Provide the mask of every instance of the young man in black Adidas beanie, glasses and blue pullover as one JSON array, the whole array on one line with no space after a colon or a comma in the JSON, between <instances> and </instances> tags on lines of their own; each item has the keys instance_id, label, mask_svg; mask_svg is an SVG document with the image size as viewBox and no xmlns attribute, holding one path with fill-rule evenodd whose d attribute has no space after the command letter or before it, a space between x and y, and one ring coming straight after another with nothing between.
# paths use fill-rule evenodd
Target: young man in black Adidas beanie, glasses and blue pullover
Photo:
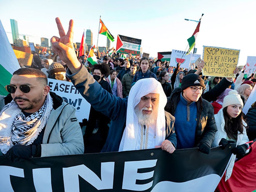
<instances>
[{"instance_id":1,"label":"young man in black Adidas beanie, glasses and blue pullover","mask_svg":"<svg viewBox=\"0 0 256 192\"><path fill-rule=\"evenodd\" d=\"M210 153L217 128L213 107L201 96L204 88L199 75L185 75L167 101L165 110L175 117L176 149L198 147L200 152Z\"/></svg>"}]
</instances>

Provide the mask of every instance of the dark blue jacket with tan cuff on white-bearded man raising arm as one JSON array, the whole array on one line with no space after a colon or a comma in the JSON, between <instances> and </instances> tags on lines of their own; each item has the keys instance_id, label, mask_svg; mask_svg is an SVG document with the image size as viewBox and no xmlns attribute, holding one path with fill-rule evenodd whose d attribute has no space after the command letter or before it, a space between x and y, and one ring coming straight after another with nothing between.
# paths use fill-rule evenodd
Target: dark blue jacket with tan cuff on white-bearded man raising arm
<instances>
[{"instance_id":1,"label":"dark blue jacket with tan cuff on white-bearded man raising arm","mask_svg":"<svg viewBox=\"0 0 256 192\"><path fill-rule=\"evenodd\" d=\"M86 101L88 101L95 110L110 117L112 120L107 141L101 152L118 151L123 136L123 130L126 126L128 97L120 98L108 93L98 82L95 82L94 78L88 73L84 66L73 75L69 69L66 74ZM166 112L165 119L166 139L171 141L174 147L176 147L177 140L174 131L175 118Z\"/></svg>"}]
</instances>

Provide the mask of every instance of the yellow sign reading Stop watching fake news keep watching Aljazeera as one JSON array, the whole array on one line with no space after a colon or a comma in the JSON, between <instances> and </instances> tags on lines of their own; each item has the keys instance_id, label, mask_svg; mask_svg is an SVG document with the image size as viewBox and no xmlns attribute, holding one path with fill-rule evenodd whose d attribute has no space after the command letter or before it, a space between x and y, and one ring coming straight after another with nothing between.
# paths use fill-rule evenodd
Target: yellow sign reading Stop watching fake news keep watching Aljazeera
<instances>
[{"instance_id":1,"label":"yellow sign reading Stop watching fake news keep watching Aljazeera","mask_svg":"<svg viewBox=\"0 0 256 192\"><path fill-rule=\"evenodd\" d=\"M240 50L203 46L203 75L234 77Z\"/></svg>"}]
</instances>

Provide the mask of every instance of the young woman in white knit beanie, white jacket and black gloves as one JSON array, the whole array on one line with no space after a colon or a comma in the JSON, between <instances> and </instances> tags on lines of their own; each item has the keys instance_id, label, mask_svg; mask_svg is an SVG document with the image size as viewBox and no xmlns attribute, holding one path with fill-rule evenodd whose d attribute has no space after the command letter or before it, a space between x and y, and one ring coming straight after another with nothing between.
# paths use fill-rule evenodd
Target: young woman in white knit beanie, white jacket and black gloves
<instances>
[{"instance_id":1,"label":"young woman in white knit beanie, white jacket and black gloves","mask_svg":"<svg viewBox=\"0 0 256 192\"><path fill-rule=\"evenodd\" d=\"M226 179L231 176L236 156L242 158L249 151L247 150L249 145L246 144L249 141L245 129L247 124L241 113L243 106L240 95L237 91L232 90L224 98L222 109L214 115L217 132L212 146L221 145L222 148L225 148L228 143L236 143L236 147L231 150L234 155L227 168Z\"/></svg>"}]
</instances>

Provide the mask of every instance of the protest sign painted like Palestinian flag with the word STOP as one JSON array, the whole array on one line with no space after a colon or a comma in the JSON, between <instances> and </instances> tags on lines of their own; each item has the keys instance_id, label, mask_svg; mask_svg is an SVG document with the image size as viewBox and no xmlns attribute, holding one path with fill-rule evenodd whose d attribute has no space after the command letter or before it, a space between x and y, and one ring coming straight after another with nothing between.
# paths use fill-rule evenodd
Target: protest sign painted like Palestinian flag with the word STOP
<instances>
[{"instance_id":1,"label":"protest sign painted like Palestinian flag with the word STOP","mask_svg":"<svg viewBox=\"0 0 256 192\"><path fill-rule=\"evenodd\" d=\"M117 53L140 56L141 39L117 35Z\"/></svg>"}]
</instances>

